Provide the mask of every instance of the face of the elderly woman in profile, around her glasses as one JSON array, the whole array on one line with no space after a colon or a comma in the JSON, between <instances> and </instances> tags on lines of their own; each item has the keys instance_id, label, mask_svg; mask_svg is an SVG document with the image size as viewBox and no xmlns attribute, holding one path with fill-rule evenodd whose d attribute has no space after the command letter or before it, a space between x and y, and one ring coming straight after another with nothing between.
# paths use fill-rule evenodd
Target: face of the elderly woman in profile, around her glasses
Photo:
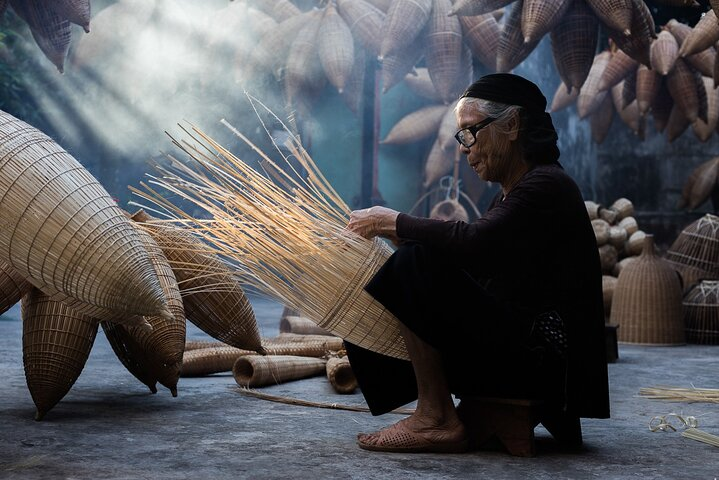
<instances>
[{"instance_id":1,"label":"face of the elderly woman in profile, around her glasses","mask_svg":"<svg viewBox=\"0 0 719 480\"><path fill-rule=\"evenodd\" d=\"M477 111L474 105L461 104L457 110L457 126L459 129L471 127L487 118L486 115ZM490 124L479 130L474 145L467 148L460 145L461 152L467 155L467 162L472 169L484 181L502 182L508 178L509 170L512 168L508 161L512 139L502 132L495 132L495 141L492 141L490 129L495 125Z\"/></svg>"}]
</instances>

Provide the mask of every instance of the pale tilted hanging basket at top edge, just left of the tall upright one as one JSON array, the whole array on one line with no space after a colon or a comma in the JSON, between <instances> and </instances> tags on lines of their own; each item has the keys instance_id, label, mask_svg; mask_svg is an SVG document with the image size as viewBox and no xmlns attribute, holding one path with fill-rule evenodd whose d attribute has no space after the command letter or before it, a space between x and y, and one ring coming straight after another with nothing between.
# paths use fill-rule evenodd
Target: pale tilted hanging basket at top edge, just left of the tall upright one
<instances>
[{"instance_id":1,"label":"pale tilted hanging basket at top edge, just left of the tall upright one","mask_svg":"<svg viewBox=\"0 0 719 480\"><path fill-rule=\"evenodd\" d=\"M429 20L432 0L394 0L382 24L380 58L411 47Z\"/></svg>"}]
</instances>

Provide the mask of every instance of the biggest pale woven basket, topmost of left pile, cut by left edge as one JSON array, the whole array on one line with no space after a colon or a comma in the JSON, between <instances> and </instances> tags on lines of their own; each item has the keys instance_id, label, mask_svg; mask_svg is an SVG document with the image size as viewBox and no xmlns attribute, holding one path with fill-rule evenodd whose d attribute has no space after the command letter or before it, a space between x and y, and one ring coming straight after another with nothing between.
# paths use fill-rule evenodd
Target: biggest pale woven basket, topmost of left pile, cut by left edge
<instances>
[{"instance_id":1,"label":"biggest pale woven basket, topmost of left pile, cut by left edge","mask_svg":"<svg viewBox=\"0 0 719 480\"><path fill-rule=\"evenodd\" d=\"M0 259L92 305L171 315L139 235L77 160L4 112L0 157Z\"/></svg>"}]
</instances>

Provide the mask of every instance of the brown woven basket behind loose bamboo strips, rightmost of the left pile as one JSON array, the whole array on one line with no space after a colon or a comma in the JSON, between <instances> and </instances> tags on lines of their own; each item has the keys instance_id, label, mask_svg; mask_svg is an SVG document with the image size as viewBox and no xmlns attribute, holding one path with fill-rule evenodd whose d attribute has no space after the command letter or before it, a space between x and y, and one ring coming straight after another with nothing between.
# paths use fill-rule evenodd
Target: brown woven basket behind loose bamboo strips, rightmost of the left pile
<instances>
[{"instance_id":1,"label":"brown woven basket behind loose bamboo strips, rightmost of the left pile","mask_svg":"<svg viewBox=\"0 0 719 480\"><path fill-rule=\"evenodd\" d=\"M260 349L252 305L227 265L188 231L157 223L144 210L131 218L162 249L177 279L187 319L228 345Z\"/></svg>"}]
</instances>

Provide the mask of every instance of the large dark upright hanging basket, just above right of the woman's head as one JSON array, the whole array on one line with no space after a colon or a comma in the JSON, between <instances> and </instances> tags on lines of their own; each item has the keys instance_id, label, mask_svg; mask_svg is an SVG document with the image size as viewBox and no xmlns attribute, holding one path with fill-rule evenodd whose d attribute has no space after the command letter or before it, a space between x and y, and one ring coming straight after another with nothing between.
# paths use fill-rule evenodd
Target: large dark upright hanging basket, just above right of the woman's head
<instances>
[{"instance_id":1,"label":"large dark upright hanging basket, just above right of the woman's head","mask_svg":"<svg viewBox=\"0 0 719 480\"><path fill-rule=\"evenodd\" d=\"M599 22L585 0L574 0L551 31L552 56L564 84L579 92L597 51Z\"/></svg>"}]
</instances>

